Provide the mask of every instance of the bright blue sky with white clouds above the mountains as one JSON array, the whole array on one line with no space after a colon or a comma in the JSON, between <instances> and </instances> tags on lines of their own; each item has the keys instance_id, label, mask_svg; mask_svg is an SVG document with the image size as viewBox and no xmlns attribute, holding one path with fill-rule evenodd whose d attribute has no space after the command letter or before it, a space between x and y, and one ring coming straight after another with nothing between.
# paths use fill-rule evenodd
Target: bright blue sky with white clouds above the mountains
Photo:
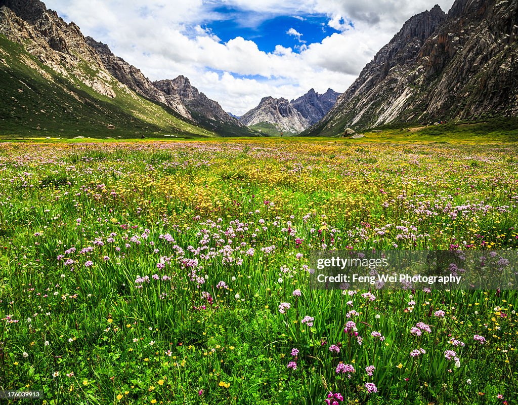
<instances>
[{"instance_id":1,"label":"bright blue sky with white clouds above the mountains","mask_svg":"<svg viewBox=\"0 0 518 405\"><path fill-rule=\"evenodd\" d=\"M46 0L151 80L189 78L230 113L343 92L416 13L453 0Z\"/></svg>"}]
</instances>

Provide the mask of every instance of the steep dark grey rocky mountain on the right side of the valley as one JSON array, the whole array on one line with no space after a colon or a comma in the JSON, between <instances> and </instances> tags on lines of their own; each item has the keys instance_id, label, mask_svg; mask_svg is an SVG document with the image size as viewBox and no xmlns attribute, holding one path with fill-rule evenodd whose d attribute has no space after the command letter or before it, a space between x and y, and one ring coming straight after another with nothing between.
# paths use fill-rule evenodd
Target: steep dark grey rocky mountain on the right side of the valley
<instances>
[{"instance_id":1,"label":"steep dark grey rocky mountain on the right side of the valley","mask_svg":"<svg viewBox=\"0 0 518 405\"><path fill-rule=\"evenodd\" d=\"M303 135L518 115L518 0L456 0L411 17Z\"/></svg>"}]
</instances>

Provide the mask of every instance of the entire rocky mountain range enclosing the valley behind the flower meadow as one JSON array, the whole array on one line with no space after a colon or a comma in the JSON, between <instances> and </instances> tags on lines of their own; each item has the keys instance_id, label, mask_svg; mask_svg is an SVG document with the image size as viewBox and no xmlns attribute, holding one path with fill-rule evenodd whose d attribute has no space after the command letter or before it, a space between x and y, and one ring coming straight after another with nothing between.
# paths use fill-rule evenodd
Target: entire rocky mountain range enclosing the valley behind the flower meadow
<instances>
[{"instance_id":1,"label":"entire rocky mountain range enclosing the valley behind the flower meadow","mask_svg":"<svg viewBox=\"0 0 518 405\"><path fill-rule=\"evenodd\" d=\"M335 136L518 115L518 0L411 17L342 94L263 97L239 119L188 78L151 81L38 0L0 0L0 133Z\"/></svg>"}]
</instances>

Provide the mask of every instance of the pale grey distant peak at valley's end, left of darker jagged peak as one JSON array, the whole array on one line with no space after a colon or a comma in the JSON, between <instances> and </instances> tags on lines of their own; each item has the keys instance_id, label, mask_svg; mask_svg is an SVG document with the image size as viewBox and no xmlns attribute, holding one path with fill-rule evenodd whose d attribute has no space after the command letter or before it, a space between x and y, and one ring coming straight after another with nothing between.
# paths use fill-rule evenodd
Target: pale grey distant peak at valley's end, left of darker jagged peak
<instances>
[{"instance_id":1,"label":"pale grey distant peak at valley's end, left of darker jagged peak","mask_svg":"<svg viewBox=\"0 0 518 405\"><path fill-rule=\"evenodd\" d=\"M264 97L259 105L252 108L239 118L243 124L257 130L275 128L277 132L286 134L298 134L309 127L309 122L298 110L286 99L274 99L274 97ZM267 131L268 132L268 131Z\"/></svg>"}]
</instances>

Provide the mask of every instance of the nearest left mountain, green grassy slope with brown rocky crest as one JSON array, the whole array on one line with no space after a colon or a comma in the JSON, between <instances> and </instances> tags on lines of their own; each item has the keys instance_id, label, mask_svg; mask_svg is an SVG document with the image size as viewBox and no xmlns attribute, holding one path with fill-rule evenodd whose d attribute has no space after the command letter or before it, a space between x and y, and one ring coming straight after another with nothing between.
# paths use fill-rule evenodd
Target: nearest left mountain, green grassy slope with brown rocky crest
<instances>
[{"instance_id":1,"label":"nearest left mountain, green grassy slope with brown rocky crest","mask_svg":"<svg viewBox=\"0 0 518 405\"><path fill-rule=\"evenodd\" d=\"M44 3L0 0L0 134L217 135L182 117L181 104L157 102L137 69L89 43Z\"/></svg>"}]
</instances>

